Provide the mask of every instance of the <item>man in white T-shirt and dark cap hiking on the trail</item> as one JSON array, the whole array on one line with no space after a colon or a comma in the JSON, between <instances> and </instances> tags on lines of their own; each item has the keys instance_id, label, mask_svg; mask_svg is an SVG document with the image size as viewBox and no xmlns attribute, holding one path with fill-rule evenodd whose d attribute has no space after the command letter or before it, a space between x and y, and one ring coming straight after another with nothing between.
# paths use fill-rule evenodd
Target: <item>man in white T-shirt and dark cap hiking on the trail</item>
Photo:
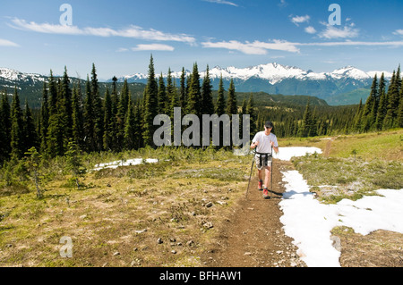
<instances>
[{"instance_id":1,"label":"man in white T-shirt and dark cap hiking on the trail","mask_svg":"<svg viewBox=\"0 0 403 285\"><path fill-rule=\"evenodd\" d=\"M269 197L270 185L270 172L272 154L271 150L274 149L276 153L279 152L279 143L275 134L271 133L273 130L273 123L267 121L264 123L264 131L259 131L252 140L251 148L256 147L256 155L254 157L256 167L259 172L259 190L263 190L263 198ZM265 172L265 180L263 185L263 170ZM273 190L273 189L271 189Z\"/></svg>"}]
</instances>

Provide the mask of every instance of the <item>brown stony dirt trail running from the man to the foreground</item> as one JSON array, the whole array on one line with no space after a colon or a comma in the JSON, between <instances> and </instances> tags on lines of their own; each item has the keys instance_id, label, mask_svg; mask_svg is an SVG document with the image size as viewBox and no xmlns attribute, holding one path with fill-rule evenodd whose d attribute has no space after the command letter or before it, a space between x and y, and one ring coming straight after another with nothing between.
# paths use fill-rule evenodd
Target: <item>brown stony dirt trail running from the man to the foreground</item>
<instances>
[{"instance_id":1,"label":"brown stony dirt trail running from the man to the foreground","mask_svg":"<svg viewBox=\"0 0 403 285\"><path fill-rule=\"evenodd\" d=\"M234 214L220 226L213 246L201 256L206 266L305 266L296 254L293 239L285 235L279 222L283 214L279 208L280 193L285 191L280 171L288 169L292 169L291 163L274 160L271 198L263 199L262 191L257 189L254 167L248 197L240 199Z\"/></svg>"}]
</instances>

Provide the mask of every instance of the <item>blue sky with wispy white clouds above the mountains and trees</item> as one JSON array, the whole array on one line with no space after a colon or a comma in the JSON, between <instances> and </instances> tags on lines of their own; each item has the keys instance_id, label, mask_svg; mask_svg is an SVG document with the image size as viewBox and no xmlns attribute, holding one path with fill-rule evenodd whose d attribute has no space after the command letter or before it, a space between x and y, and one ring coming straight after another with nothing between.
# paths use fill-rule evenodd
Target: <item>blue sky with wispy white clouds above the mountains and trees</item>
<instances>
[{"instance_id":1,"label":"blue sky with wispy white clouds above the mountains and trees","mask_svg":"<svg viewBox=\"0 0 403 285\"><path fill-rule=\"evenodd\" d=\"M62 4L71 22L60 21ZM1 0L0 66L61 74L66 65L85 78L95 63L107 80L147 72L153 54L158 73L194 62L393 71L403 63L402 11L401 0Z\"/></svg>"}]
</instances>

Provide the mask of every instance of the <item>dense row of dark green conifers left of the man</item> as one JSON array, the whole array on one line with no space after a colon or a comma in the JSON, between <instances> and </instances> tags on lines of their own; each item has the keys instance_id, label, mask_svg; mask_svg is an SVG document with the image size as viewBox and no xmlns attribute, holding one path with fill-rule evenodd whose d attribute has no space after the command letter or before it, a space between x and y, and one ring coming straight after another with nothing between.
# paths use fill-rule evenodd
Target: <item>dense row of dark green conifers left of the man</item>
<instances>
[{"instance_id":1,"label":"dense row of dark green conifers left of the man","mask_svg":"<svg viewBox=\"0 0 403 285\"><path fill-rule=\"evenodd\" d=\"M49 80L44 82L37 120L27 103L21 109L17 87L11 105L4 89L0 105L0 162L19 160L31 147L44 157L65 155L72 143L88 153L154 147L153 134L159 128L153 125L154 117L165 113L173 120L174 107L181 107L183 116L187 113L199 118L203 113L219 116L250 113L253 117L253 96L244 100L238 110L232 80L225 96L220 79L219 96L213 102L209 66L203 79L197 63L193 64L189 76L183 68L179 86L176 86L170 69L167 80L162 73L156 76L151 55L148 81L142 98L136 100L131 96L127 80L121 90L116 88L116 77L112 81L112 88L107 88L104 96L100 96L95 64L92 64L84 90L81 90L80 80L77 84L71 83L66 67L63 77L58 79L50 71ZM253 118L251 121L253 124Z\"/></svg>"}]
</instances>

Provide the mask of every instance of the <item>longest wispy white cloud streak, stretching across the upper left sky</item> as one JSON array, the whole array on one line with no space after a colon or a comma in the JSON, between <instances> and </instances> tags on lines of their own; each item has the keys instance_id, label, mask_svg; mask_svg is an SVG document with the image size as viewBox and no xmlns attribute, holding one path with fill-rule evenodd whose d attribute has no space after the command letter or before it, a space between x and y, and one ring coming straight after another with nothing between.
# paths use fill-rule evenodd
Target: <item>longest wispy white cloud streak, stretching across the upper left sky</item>
<instances>
[{"instance_id":1,"label":"longest wispy white cloud streak, stretching across the upper left sky","mask_svg":"<svg viewBox=\"0 0 403 285\"><path fill-rule=\"evenodd\" d=\"M83 35L97 37L122 37L122 38L140 38L159 41L178 41L193 44L196 39L185 34L170 34L157 29L142 29L138 26L130 26L125 29L110 28L79 28L77 26L55 25L49 23L27 22L18 18L12 20L11 27L14 29L23 29L47 34L62 35Z\"/></svg>"}]
</instances>

